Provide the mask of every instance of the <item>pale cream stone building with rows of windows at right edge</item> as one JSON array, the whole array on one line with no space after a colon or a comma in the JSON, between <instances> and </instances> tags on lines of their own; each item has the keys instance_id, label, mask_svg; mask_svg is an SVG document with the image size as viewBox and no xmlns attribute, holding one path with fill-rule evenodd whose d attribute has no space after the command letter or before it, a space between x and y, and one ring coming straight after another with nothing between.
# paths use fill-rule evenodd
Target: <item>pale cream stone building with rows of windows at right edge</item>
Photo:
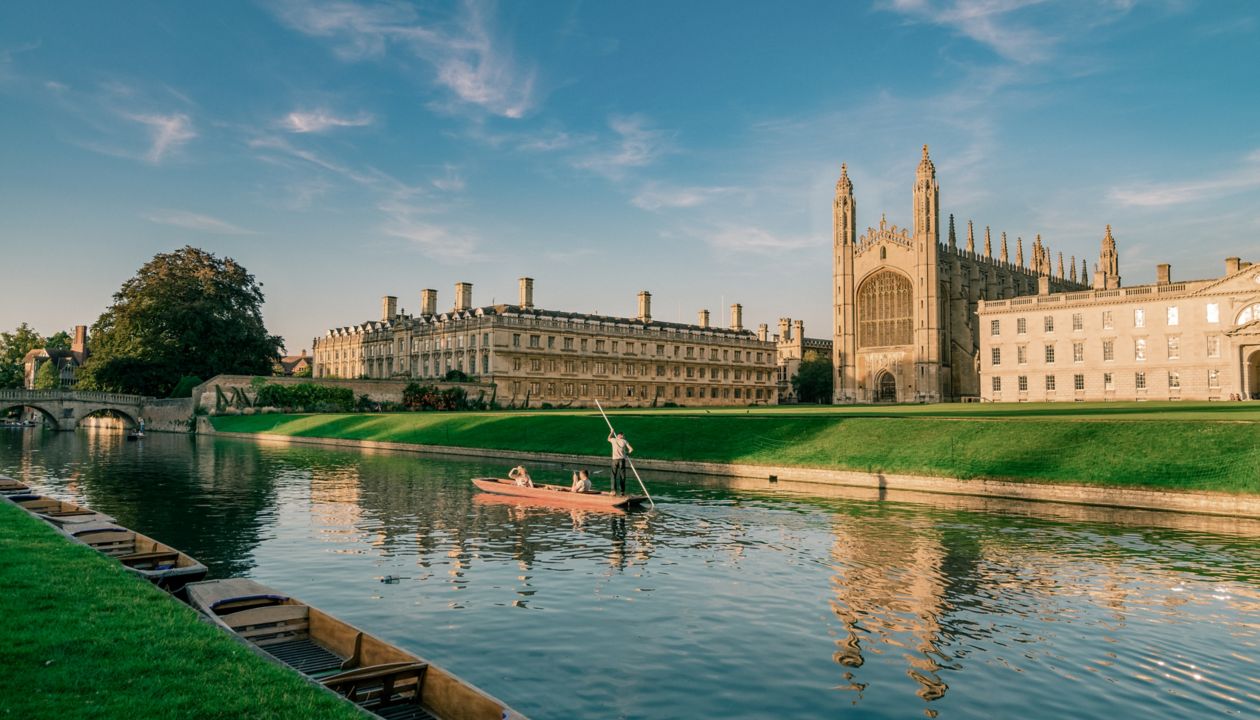
<instances>
[{"instance_id":1,"label":"pale cream stone building with rows of windows at right edge","mask_svg":"<svg viewBox=\"0 0 1260 720\"><path fill-rule=\"evenodd\" d=\"M1120 286L1102 238L1094 289L980 304L985 401L1260 398L1260 266Z\"/></svg>"}]
</instances>

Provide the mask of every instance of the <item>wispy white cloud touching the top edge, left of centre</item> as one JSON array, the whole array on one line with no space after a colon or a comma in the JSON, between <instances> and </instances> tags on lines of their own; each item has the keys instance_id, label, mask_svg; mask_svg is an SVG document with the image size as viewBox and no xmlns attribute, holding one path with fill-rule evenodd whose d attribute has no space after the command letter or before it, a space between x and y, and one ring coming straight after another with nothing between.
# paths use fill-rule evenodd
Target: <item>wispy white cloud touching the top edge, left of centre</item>
<instances>
[{"instance_id":1,"label":"wispy white cloud touching the top edge, left of centre","mask_svg":"<svg viewBox=\"0 0 1260 720\"><path fill-rule=\"evenodd\" d=\"M536 71L522 67L491 32L489 9L467 0L454 19L422 20L411 5L339 0L281 3L276 14L295 30L334 44L346 61L379 58L391 48L432 67L432 79L462 105L523 117L536 102Z\"/></svg>"}]
</instances>

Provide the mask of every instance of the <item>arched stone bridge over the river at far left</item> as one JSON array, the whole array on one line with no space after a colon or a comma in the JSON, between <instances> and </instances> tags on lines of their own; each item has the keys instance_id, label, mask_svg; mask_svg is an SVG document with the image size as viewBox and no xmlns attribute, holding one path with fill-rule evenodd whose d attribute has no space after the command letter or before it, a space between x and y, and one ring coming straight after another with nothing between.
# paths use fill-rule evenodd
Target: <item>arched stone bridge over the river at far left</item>
<instances>
[{"instance_id":1,"label":"arched stone bridge over the river at far left","mask_svg":"<svg viewBox=\"0 0 1260 720\"><path fill-rule=\"evenodd\" d=\"M179 419L186 422L193 414L190 400L76 390L0 390L0 414L11 407L38 410L54 430L74 430L83 419L103 411L121 416L127 427L135 427L141 419L146 426Z\"/></svg>"}]
</instances>

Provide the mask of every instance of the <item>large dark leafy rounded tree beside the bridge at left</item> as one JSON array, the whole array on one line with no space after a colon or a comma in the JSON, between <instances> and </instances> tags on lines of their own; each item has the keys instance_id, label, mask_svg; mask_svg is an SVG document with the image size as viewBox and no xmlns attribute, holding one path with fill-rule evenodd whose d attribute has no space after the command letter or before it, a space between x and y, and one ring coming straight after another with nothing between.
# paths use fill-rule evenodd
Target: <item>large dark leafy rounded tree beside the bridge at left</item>
<instances>
[{"instance_id":1,"label":"large dark leafy rounded tree beside the bridge at left","mask_svg":"<svg viewBox=\"0 0 1260 720\"><path fill-rule=\"evenodd\" d=\"M281 338L262 323L262 286L231 257L159 253L92 325L81 385L166 396L181 376L270 375Z\"/></svg>"}]
</instances>

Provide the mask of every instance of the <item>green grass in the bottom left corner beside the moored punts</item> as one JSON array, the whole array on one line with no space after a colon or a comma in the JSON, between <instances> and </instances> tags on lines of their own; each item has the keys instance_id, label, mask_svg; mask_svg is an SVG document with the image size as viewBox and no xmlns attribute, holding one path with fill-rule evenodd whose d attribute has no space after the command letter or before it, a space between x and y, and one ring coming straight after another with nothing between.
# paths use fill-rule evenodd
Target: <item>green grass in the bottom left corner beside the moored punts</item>
<instances>
[{"instance_id":1,"label":"green grass in the bottom left corner beside the moored punts","mask_svg":"<svg viewBox=\"0 0 1260 720\"><path fill-rule=\"evenodd\" d=\"M6 502L0 588L3 717L362 717Z\"/></svg>"}]
</instances>

